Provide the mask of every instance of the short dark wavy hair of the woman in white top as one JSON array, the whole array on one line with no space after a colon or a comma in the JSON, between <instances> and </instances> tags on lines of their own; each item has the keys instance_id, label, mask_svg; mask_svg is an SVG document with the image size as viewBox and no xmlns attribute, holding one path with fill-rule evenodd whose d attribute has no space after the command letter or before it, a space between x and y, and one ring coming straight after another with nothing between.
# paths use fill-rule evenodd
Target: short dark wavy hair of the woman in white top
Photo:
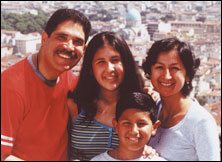
<instances>
[{"instance_id":1,"label":"short dark wavy hair of the woman in white top","mask_svg":"<svg viewBox=\"0 0 222 162\"><path fill-rule=\"evenodd\" d=\"M169 52L175 49L178 52L180 60L186 69L186 75L190 81L185 82L181 89L183 96L188 96L193 89L192 80L200 65L200 59L195 58L191 46L185 42L180 41L177 38L168 38L156 41L147 53L147 57L142 67L144 72L147 74L147 78L151 77L151 67L157 62L158 56L162 52Z\"/></svg>"}]
</instances>

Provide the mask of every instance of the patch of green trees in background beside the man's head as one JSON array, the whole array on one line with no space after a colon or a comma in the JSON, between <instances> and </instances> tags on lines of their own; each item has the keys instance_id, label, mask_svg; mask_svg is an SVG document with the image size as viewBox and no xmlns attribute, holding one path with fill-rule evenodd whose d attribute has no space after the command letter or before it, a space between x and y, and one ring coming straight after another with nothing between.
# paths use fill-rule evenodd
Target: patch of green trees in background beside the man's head
<instances>
[{"instance_id":1,"label":"patch of green trees in background beside the man's head","mask_svg":"<svg viewBox=\"0 0 222 162\"><path fill-rule=\"evenodd\" d=\"M43 11L38 11L38 15L25 13L23 15L15 13L1 13L1 29L10 31L20 31L23 34L31 32L41 33L48 21L48 15Z\"/></svg>"}]
</instances>

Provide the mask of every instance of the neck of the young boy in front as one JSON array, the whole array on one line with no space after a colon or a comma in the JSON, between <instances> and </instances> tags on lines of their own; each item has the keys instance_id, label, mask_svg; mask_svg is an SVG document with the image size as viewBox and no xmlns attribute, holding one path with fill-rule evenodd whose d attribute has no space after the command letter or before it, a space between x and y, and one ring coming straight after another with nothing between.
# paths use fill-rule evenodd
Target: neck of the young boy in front
<instances>
[{"instance_id":1,"label":"neck of the young boy in front","mask_svg":"<svg viewBox=\"0 0 222 162\"><path fill-rule=\"evenodd\" d=\"M140 149L138 151L130 151L126 148L121 149L121 146L119 146L110 155L118 160L133 160L140 158L143 155L143 150L144 149Z\"/></svg>"}]
</instances>

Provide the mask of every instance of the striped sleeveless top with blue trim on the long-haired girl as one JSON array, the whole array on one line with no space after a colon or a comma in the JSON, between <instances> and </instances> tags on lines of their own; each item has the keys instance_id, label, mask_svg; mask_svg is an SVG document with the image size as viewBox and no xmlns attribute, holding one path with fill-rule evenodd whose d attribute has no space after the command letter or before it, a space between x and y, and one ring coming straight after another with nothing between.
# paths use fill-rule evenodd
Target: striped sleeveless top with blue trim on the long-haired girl
<instances>
[{"instance_id":1,"label":"striped sleeveless top with blue trim on the long-haired girl","mask_svg":"<svg viewBox=\"0 0 222 162\"><path fill-rule=\"evenodd\" d=\"M89 121L82 111L73 121L71 132L72 159L88 161L93 157L116 148L118 135L96 120Z\"/></svg>"}]
</instances>

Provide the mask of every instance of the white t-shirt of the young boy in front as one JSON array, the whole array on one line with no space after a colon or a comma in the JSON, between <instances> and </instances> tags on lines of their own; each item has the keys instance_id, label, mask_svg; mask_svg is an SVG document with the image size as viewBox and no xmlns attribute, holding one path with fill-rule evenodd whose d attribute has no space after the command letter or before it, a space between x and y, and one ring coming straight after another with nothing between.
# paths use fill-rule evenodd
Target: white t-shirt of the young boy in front
<instances>
[{"instance_id":1,"label":"white t-shirt of the young boy in front","mask_svg":"<svg viewBox=\"0 0 222 162\"><path fill-rule=\"evenodd\" d=\"M119 160L119 159L115 159L113 157L111 157L109 154L108 154L108 151L100 154L100 155L97 155L95 156L94 158L92 158L90 161L123 161L123 160ZM140 158L137 158L137 159L132 159L132 160L124 160L124 161L167 161L166 159L162 158L162 157L159 157L159 156L154 156L153 158L149 159L148 157L147 158L144 158L143 156L140 157Z\"/></svg>"}]
</instances>

